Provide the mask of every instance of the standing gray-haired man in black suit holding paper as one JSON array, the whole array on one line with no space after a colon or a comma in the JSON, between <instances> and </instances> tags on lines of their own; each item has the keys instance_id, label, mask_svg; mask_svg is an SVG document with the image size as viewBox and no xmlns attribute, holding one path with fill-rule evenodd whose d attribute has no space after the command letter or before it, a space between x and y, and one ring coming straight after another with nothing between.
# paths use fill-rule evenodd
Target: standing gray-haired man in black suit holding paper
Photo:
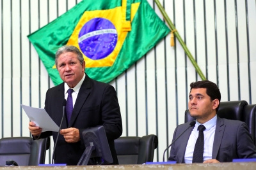
<instances>
[{"instance_id":1,"label":"standing gray-haired man in black suit holding paper","mask_svg":"<svg viewBox=\"0 0 256 170\"><path fill-rule=\"evenodd\" d=\"M71 117L68 117L67 101L66 117L61 125L54 162L77 165L85 149L83 130L103 125L113 164L118 164L114 140L122 134L122 118L115 89L107 83L92 80L84 73L83 54L75 46L62 46L56 52L55 64L64 82L47 90L45 111L60 126L63 99L68 100L71 95L71 105L74 108ZM68 89L72 89L71 94L68 94ZM33 122L29 122L29 131L35 139L53 136L56 143L58 132L42 132L42 129Z\"/></svg>"}]
</instances>

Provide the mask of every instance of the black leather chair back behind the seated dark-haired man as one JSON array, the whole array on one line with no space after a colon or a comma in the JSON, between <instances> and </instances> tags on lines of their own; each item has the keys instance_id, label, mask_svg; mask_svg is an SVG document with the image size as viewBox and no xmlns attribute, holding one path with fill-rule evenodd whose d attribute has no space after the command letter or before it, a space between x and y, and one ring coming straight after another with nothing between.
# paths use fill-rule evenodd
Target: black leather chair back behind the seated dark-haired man
<instances>
[{"instance_id":1,"label":"black leather chair back behind the seated dark-haired man","mask_svg":"<svg viewBox=\"0 0 256 170\"><path fill-rule=\"evenodd\" d=\"M248 104L246 101L224 101L220 103L217 115L221 118L240 120L248 125L253 143L256 145L256 104ZM190 116L189 110L185 111L185 123L195 120Z\"/></svg>"}]
</instances>

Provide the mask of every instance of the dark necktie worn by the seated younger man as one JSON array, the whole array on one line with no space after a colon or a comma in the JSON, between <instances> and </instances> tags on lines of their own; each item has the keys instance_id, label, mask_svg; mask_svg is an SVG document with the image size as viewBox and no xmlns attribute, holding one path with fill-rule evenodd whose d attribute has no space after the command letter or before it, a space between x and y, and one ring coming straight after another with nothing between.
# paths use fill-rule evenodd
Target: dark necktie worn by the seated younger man
<instances>
[{"instance_id":1,"label":"dark necktie worn by the seated younger man","mask_svg":"<svg viewBox=\"0 0 256 170\"><path fill-rule=\"evenodd\" d=\"M192 163L203 163L204 158L204 125L198 126L198 138L196 140L196 145L193 153L193 160Z\"/></svg>"}]
</instances>

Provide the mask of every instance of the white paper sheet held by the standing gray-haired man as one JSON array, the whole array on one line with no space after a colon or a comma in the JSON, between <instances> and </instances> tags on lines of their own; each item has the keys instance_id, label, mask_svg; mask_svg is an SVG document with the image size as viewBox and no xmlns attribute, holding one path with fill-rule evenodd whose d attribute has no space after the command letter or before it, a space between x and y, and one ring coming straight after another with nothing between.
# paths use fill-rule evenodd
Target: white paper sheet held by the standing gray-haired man
<instances>
[{"instance_id":1,"label":"white paper sheet held by the standing gray-haired man","mask_svg":"<svg viewBox=\"0 0 256 170\"><path fill-rule=\"evenodd\" d=\"M28 115L29 120L35 123L36 126L39 126L42 128L42 132L45 132L45 131L58 132L59 131L60 127L58 127L58 125L55 124L55 122L52 120L52 118L48 115L48 113L44 109L32 108L24 104L20 104L20 105Z\"/></svg>"}]
</instances>

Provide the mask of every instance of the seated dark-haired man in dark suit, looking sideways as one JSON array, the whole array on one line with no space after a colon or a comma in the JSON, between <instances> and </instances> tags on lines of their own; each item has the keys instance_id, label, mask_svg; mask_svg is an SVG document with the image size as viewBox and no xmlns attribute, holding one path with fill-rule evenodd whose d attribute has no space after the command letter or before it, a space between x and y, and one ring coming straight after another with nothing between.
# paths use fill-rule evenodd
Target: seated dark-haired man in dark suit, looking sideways
<instances>
[{"instance_id":1,"label":"seated dark-haired man in dark suit, looking sideways","mask_svg":"<svg viewBox=\"0 0 256 170\"><path fill-rule=\"evenodd\" d=\"M217 163L252 158L256 151L247 125L216 115L221 99L217 85L205 80L191 83L190 87L188 107L191 117L196 118L196 124L173 143L169 160L177 163L194 163L200 157L198 162ZM190 123L177 126L173 141L189 127ZM202 125L204 130L200 137L200 145L198 127ZM202 151L198 152L197 148L200 147Z\"/></svg>"}]
</instances>

